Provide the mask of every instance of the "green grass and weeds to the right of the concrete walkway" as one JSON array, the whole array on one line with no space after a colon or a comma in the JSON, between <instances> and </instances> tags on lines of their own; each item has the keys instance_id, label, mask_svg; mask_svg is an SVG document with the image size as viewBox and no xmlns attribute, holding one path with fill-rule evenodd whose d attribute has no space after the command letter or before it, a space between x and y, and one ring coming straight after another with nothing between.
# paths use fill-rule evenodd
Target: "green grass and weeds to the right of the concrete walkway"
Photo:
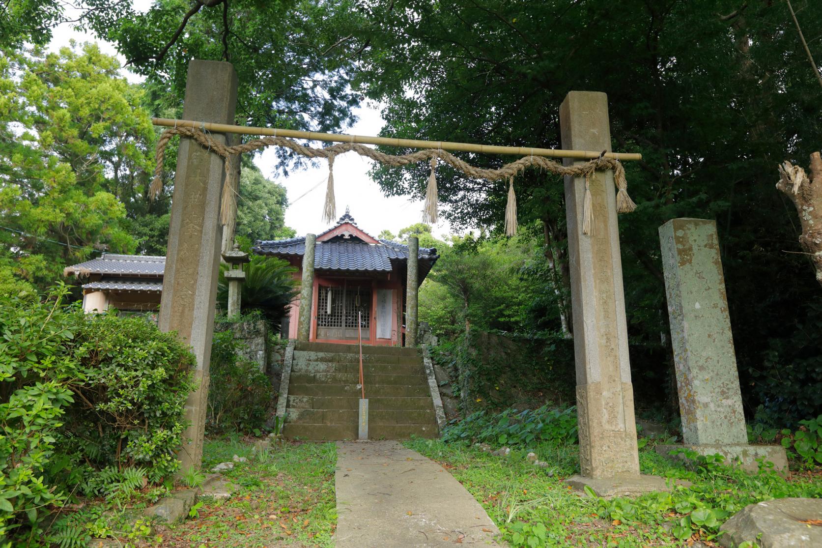
<instances>
[{"instance_id":1,"label":"green grass and weeds to the right of the concrete walkway","mask_svg":"<svg viewBox=\"0 0 822 548\"><path fill-rule=\"evenodd\" d=\"M510 546L644 548L694 546L693 541L717 546L718 526L747 504L822 496L818 475L786 480L772 471L750 474L710 461L690 471L645 448L640 452L642 473L693 485L606 501L575 493L562 482L579 471L576 445L531 448L551 463L544 469L528 462L524 450L502 458L464 442L413 439L405 445L446 467L483 504Z\"/></svg>"}]
</instances>

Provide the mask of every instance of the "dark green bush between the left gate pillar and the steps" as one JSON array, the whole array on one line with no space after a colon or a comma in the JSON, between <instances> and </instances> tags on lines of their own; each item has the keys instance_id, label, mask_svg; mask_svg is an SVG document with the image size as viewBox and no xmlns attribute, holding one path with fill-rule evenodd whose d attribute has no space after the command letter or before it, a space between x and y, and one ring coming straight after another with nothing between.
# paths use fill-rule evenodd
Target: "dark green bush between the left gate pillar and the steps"
<instances>
[{"instance_id":1,"label":"dark green bush between the left gate pillar and the steps","mask_svg":"<svg viewBox=\"0 0 822 548\"><path fill-rule=\"evenodd\" d=\"M214 335L205 423L210 434L251 433L266 422L274 397L271 382L259 365L238 356L241 345L230 330Z\"/></svg>"}]
</instances>

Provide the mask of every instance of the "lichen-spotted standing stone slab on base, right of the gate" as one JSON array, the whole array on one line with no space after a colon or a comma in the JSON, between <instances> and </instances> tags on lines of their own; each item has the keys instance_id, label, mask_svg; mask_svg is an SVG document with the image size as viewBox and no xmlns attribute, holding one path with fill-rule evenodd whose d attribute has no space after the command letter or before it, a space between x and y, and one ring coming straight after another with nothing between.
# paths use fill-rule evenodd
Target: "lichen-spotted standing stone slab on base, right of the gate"
<instances>
[{"instance_id":1,"label":"lichen-spotted standing stone slab on base, right of the gate","mask_svg":"<svg viewBox=\"0 0 822 548\"><path fill-rule=\"evenodd\" d=\"M716 223L673 219L659 227L659 240L684 443L702 454L739 457L753 470L755 457L784 467L781 446L748 446Z\"/></svg>"}]
</instances>

